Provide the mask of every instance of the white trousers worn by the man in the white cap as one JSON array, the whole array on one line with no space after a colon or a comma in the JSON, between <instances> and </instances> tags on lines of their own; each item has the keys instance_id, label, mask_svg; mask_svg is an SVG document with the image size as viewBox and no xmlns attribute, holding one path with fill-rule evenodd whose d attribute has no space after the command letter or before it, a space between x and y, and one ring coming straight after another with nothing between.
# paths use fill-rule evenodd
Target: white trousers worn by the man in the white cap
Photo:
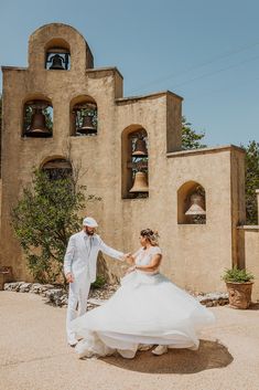
<instances>
[{"instance_id":1,"label":"white trousers worn by the man in the white cap","mask_svg":"<svg viewBox=\"0 0 259 390\"><path fill-rule=\"evenodd\" d=\"M69 283L68 303L66 312L66 334L67 341L75 340L75 334L71 329L71 322L77 316L83 316L86 313L87 299L90 289L90 282Z\"/></svg>"}]
</instances>

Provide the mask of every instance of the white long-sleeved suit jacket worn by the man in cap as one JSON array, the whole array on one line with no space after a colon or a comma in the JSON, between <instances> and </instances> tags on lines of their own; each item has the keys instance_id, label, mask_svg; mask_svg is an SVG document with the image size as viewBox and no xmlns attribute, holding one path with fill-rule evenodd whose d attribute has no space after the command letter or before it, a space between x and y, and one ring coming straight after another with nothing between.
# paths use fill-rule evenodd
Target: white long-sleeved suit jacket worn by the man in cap
<instances>
[{"instance_id":1,"label":"white long-sleeved suit jacket worn by the man in cap","mask_svg":"<svg viewBox=\"0 0 259 390\"><path fill-rule=\"evenodd\" d=\"M98 252L101 251L108 256L122 260L123 253L106 245L98 234L88 235L83 231L69 238L66 254L64 257L64 274L71 272L75 283L82 277L90 281L96 280L96 263Z\"/></svg>"}]
</instances>

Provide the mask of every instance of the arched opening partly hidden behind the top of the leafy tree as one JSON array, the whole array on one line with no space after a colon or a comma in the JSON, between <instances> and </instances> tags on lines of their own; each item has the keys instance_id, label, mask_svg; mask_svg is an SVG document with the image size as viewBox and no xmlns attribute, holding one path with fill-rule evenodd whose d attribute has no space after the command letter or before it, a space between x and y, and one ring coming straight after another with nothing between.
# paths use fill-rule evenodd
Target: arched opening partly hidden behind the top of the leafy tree
<instances>
[{"instance_id":1,"label":"arched opening partly hidden behind the top of the leafy tree","mask_svg":"<svg viewBox=\"0 0 259 390\"><path fill-rule=\"evenodd\" d=\"M46 160L41 169L47 175L50 180L66 179L73 176L71 162L62 157Z\"/></svg>"}]
</instances>

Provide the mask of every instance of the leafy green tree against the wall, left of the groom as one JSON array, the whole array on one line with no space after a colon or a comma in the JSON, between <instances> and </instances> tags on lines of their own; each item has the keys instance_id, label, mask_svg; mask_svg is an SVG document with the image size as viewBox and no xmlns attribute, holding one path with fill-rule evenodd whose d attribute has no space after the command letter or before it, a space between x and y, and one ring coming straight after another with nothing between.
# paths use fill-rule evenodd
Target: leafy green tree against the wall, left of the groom
<instances>
[{"instance_id":1,"label":"leafy green tree against the wall, left of the groom","mask_svg":"<svg viewBox=\"0 0 259 390\"><path fill-rule=\"evenodd\" d=\"M86 201L99 200L86 198L85 190L72 175L51 180L46 172L35 170L31 188L23 190L13 208L14 232L36 281L50 283L62 276L68 238L82 228L78 212Z\"/></svg>"}]
</instances>

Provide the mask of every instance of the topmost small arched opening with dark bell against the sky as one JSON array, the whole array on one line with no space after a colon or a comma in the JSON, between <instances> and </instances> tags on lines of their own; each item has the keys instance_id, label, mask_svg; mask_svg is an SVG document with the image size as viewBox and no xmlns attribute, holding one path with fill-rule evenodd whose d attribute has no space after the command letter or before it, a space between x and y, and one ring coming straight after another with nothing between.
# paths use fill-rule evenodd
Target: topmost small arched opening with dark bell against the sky
<instances>
[{"instance_id":1,"label":"topmost small arched opening with dark bell against the sky","mask_svg":"<svg viewBox=\"0 0 259 390\"><path fill-rule=\"evenodd\" d=\"M71 70L71 49L66 41L53 39L45 46L45 68L48 71Z\"/></svg>"}]
</instances>

